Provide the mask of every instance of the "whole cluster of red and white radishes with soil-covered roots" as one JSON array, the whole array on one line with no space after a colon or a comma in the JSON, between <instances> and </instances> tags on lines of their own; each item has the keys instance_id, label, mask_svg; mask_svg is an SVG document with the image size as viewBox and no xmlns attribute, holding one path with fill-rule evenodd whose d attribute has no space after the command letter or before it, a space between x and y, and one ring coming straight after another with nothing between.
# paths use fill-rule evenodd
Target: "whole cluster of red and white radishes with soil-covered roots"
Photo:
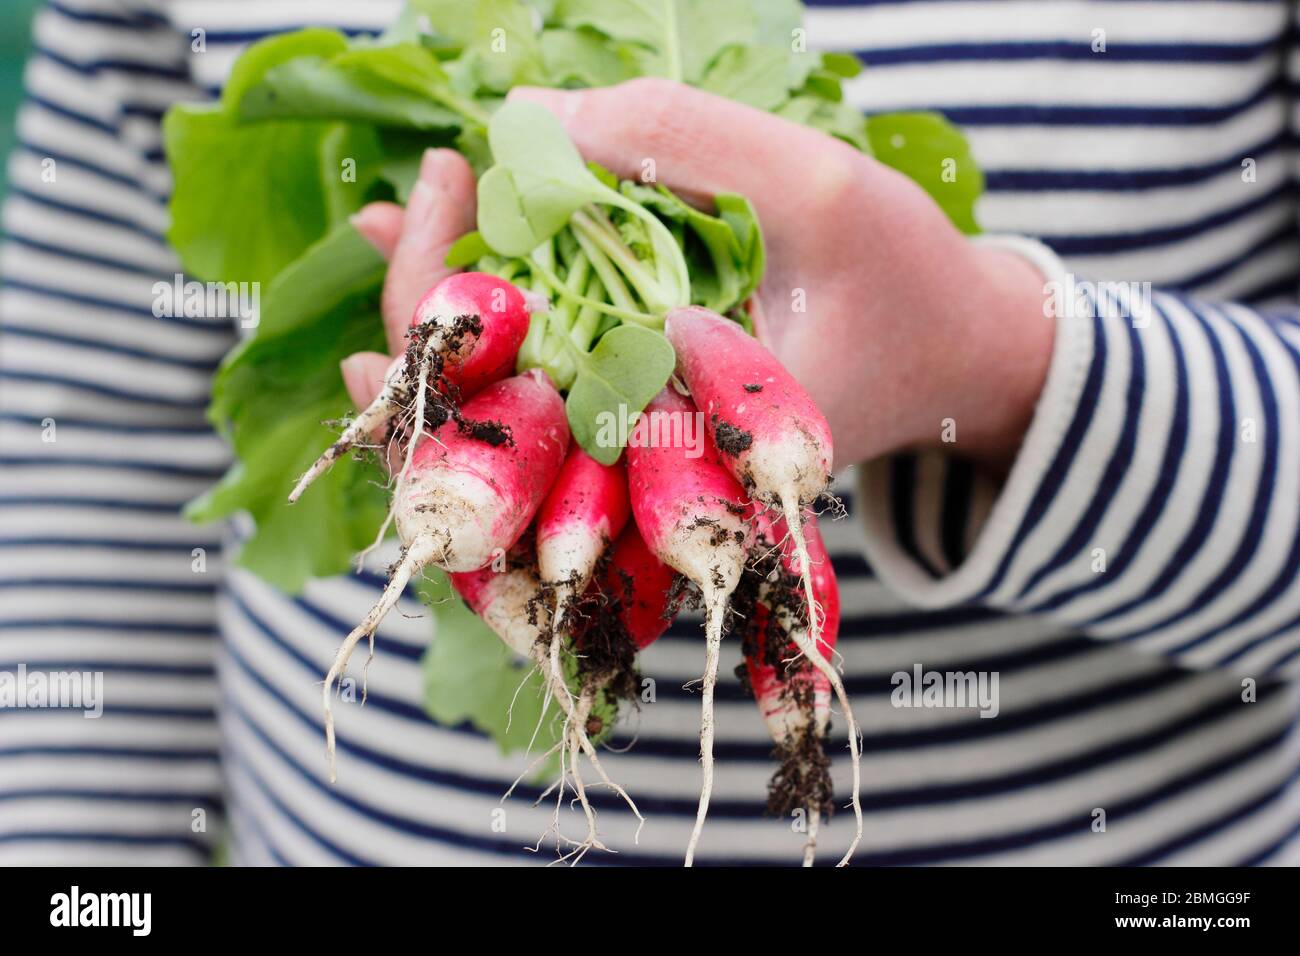
<instances>
[{"instance_id":1,"label":"whole cluster of red and white radishes with soil-covered roots","mask_svg":"<svg viewBox=\"0 0 1300 956\"><path fill-rule=\"evenodd\" d=\"M831 792L824 760L809 756L807 740L820 745L831 693L838 697L853 753L855 847L862 831L858 735L831 661L837 594L815 525L805 523L829 481L824 418L737 323L702 308L673 310L664 333L680 381L650 402L630 433L625 463L601 464L571 445L564 401L546 372L534 367L511 375L528 334L529 304L510 282L485 273L455 274L430 290L380 397L290 496L296 499L348 449L373 446L377 437L389 446L396 472L389 518L403 551L325 679L330 779L334 682L361 640L373 654L374 631L407 584L437 567L510 648L536 663L547 701L554 698L564 715L558 804L567 773L588 822L586 839L571 840L566 856L576 861L590 848L606 849L578 773L580 754L637 812L601 766L592 736L608 728L589 726L593 704L634 687L633 658L667 628L685 579L706 614L703 780L686 848L690 865L712 793L720 644L737 630L728 605L742 580L774 567L748 588L753 614L738 623L750 684L779 749L789 750L784 773L816 778L800 792L809 804L810 847ZM706 447L655 441L650 423L656 415L702 415ZM802 601L790 600L790 588L770 587L774 574L797 581L793 591ZM754 630L759 614L762 635Z\"/></svg>"}]
</instances>

